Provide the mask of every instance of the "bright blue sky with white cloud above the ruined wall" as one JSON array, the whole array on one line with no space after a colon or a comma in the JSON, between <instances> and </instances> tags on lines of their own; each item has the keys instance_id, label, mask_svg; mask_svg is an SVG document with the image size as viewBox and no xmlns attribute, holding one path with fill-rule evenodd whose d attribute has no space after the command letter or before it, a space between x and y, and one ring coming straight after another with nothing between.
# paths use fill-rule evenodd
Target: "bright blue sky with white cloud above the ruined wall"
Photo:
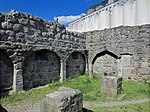
<instances>
[{"instance_id":1,"label":"bright blue sky with white cloud above the ruined wall","mask_svg":"<svg viewBox=\"0 0 150 112\"><path fill-rule=\"evenodd\" d=\"M0 12L8 13L11 10L38 16L44 20L59 23L78 19L85 15L91 5L102 0L0 0Z\"/></svg>"}]
</instances>

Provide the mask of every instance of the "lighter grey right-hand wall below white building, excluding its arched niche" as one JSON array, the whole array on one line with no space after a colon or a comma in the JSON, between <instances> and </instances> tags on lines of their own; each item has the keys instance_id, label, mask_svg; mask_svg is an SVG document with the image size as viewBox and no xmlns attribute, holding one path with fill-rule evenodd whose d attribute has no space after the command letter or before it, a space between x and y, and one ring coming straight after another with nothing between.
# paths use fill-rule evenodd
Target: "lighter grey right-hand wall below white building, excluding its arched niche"
<instances>
[{"instance_id":1,"label":"lighter grey right-hand wall below white building, excluding its arched niche","mask_svg":"<svg viewBox=\"0 0 150 112\"><path fill-rule=\"evenodd\" d=\"M140 77L150 74L150 25L120 26L86 32L85 35L90 73L99 54L110 52L116 57L120 76Z\"/></svg>"}]
</instances>

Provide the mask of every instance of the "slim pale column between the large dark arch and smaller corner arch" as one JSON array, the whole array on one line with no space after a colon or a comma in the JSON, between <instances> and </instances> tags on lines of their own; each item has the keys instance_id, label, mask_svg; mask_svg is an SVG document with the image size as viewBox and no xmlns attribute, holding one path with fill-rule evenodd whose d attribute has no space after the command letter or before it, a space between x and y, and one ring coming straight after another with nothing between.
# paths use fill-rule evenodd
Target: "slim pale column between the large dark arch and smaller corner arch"
<instances>
[{"instance_id":1,"label":"slim pale column between the large dark arch and smaller corner arch","mask_svg":"<svg viewBox=\"0 0 150 112\"><path fill-rule=\"evenodd\" d=\"M66 80L66 60L60 60L60 82Z\"/></svg>"}]
</instances>

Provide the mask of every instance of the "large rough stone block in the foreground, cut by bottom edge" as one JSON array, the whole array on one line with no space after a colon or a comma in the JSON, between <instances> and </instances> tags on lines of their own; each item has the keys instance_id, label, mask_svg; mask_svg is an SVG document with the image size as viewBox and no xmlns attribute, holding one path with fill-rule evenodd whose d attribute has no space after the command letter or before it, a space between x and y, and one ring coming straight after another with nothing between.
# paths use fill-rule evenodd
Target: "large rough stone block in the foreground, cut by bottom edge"
<instances>
[{"instance_id":1,"label":"large rough stone block in the foreground, cut by bottom edge","mask_svg":"<svg viewBox=\"0 0 150 112\"><path fill-rule=\"evenodd\" d=\"M60 87L58 91L46 96L41 112L83 112L82 97L78 90Z\"/></svg>"}]
</instances>

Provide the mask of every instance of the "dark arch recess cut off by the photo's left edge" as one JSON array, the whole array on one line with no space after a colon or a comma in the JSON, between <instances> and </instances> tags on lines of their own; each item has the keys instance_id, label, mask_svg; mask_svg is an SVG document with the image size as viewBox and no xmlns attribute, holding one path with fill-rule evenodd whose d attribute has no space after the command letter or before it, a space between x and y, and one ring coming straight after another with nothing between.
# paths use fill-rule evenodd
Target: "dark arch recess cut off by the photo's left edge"
<instances>
[{"instance_id":1,"label":"dark arch recess cut off by the photo's left edge","mask_svg":"<svg viewBox=\"0 0 150 112\"><path fill-rule=\"evenodd\" d=\"M7 94L13 86L13 63L6 55L4 50L0 49L0 95Z\"/></svg>"}]
</instances>

